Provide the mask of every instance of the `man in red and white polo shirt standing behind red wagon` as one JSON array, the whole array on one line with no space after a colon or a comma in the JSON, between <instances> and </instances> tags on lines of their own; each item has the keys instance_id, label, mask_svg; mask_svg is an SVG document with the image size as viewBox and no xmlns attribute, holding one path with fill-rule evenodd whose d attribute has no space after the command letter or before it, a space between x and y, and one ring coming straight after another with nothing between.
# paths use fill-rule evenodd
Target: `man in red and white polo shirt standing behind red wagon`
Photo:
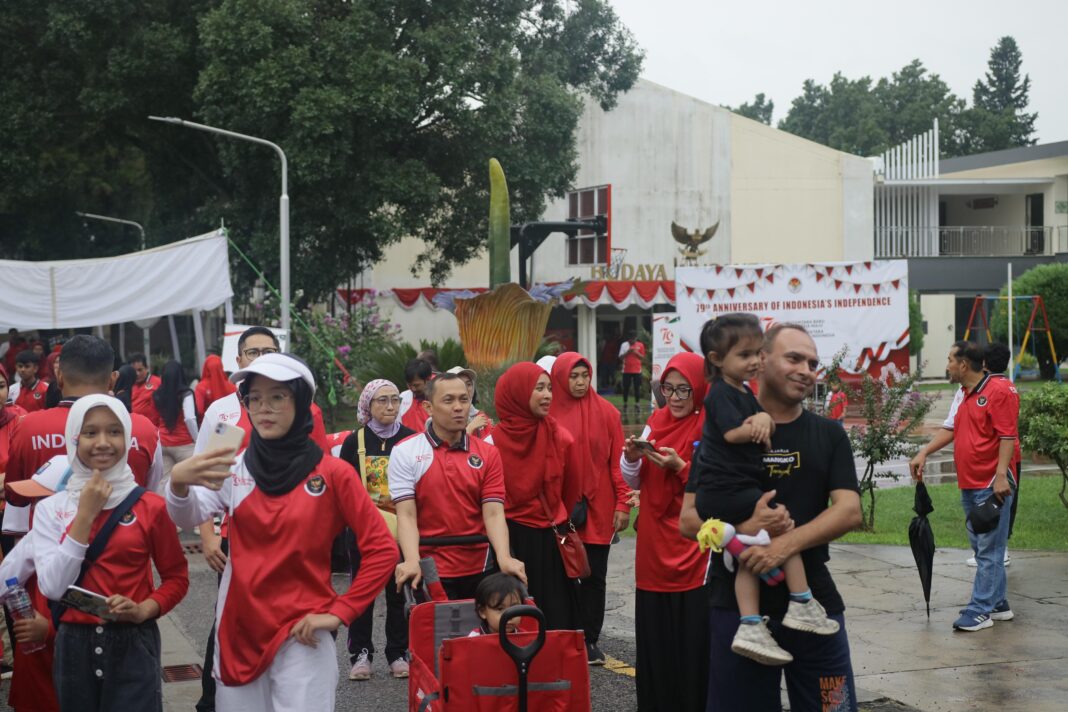
<instances>
[{"instance_id":1,"label":"man in red and white polo shirt standing behind red wagon","mask_svg":"<svg viewBox=\"0 0 1068 712\"><path fill-rule=\"evenodd\" d=\"M456 374L426 383L430 420L422 432L398 443L390 456L390 496L396 505L397 540L404 563L397 586L419 585L419 560L434 558L450 599L474 598L474 589L497 566L527 583L522 561L513 558L504 521L504 472L497 448L467 434L471 397ZM485 535L489 544L420 545L420 537Z\"/></svg>"}]
</instances>

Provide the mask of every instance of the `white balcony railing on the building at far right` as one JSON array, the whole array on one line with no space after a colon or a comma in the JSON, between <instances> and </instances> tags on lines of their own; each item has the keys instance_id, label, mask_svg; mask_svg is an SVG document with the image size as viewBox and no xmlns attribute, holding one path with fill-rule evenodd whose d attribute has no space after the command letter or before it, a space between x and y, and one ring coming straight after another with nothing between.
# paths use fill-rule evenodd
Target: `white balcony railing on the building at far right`
<instances>
[{"instance_id":1,"label":"white balcony railing on the building at far right","mask_svg":"<svg viewBox=\"0 0 1068 712\"><path fill-rule=\"evenodd\" d=\"M876 257L926 257L917 246L937 244L945 257L1016 257L1068 252L1068 227L1061 225L952 225L876 227Z\"/></svg>"}]
</instances>

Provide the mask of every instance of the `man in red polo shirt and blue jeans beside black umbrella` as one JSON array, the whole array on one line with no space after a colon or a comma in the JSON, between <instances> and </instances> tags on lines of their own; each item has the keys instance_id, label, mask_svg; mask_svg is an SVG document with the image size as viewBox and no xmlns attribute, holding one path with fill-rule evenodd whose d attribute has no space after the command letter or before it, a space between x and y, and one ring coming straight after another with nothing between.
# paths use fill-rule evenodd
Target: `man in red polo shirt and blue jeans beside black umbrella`
<instances>
[{"instance_id":1,"label":"man in red polo shirt and blue jeans beside black umbrella","mask_svg":"<svg viewBox=\"0 0 1068 712\"><path fill-rule=\"evenodd\" d=\"M977 569L972 598L953 627L978 631L995 620L1011 620L1006 599L1005 548L1008 541L1009 509L1018 481L1016 455L1020 397L1007 378L984 370L984 350L971 342L957 342L949 349L946 373L952 383L960 383L961 399L953 420L953 459L957 468L960 502L968 517L990 497L1002 504L1002 515L993 531L975 534L968 525L968 538L975 552ZM944 441L938 436L912 461L913 478L923 476L926 455Z\"/></svg>"}]
</instances>

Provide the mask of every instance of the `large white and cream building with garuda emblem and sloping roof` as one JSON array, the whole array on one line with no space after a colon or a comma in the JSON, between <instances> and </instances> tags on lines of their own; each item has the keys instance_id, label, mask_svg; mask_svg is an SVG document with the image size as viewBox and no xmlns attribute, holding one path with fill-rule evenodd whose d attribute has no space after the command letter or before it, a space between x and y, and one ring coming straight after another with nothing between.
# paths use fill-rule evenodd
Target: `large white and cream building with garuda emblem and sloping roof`
<instances>
[{"instance_id":1,"label":"large white and cream building with garuda emblem and sloping roof","mask_svg":"<svg viewBox=\"0 0 1068 712\"><path fill-rule=\"evenodd\" d=\"M588 281L554 310L549 331L591 359L621 332L672 311L684 255L672 223L714 235L696 264L863 260L874 256L873 170L866 158L819 145L665 86L640 80L606 112L587 101L576 136L575 190L544 220L606 216L603 237L550 236L534 253L535 282ZM504 167L507 173L508 167ZM410 266L422 244L392 246L360 288L382 292L404 336L456 336L453 316ZM517 270L513 250L513 275ZM485 288L485 257L457 267L443 288ZM606 348L606 342L609 347Z\"/></svg>"}]
</instances>

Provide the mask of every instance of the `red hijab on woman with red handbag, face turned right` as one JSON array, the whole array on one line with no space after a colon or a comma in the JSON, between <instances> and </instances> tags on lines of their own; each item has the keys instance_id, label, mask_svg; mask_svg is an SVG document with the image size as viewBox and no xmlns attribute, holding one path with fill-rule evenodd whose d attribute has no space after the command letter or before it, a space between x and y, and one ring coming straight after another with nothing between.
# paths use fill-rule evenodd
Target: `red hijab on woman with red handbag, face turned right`
<instances>
[{"instance_id":1,"label":"red hijab on woman with red handbag, face turned right","mask_svg":"<svg viewBox=\"0 0 1068 712\"><path fill-rule=\"evenodd\" d=\"M501 453L508 500L516 504L536 497L543 490L557 491L559 486L546 485L564 474L564 458L556 444L560 425L552 415L537 417L531 412L531 395L543 374L548 375L541 366L522 361L504 371L493 392L500 418L493 427L493 444Z\"/></svg>"}]
</instances>

